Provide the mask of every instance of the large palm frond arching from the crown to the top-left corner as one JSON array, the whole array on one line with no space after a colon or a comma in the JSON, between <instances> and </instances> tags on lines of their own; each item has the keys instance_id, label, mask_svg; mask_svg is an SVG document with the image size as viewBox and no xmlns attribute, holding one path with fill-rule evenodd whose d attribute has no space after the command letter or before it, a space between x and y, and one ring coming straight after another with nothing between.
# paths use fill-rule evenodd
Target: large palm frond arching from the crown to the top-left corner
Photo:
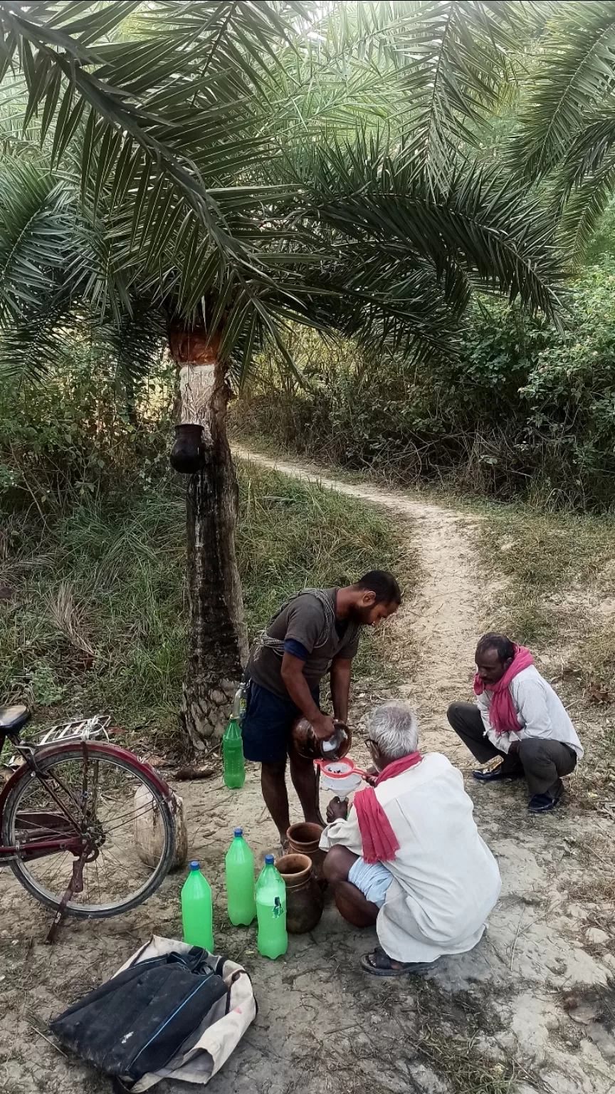
<instances>
[{"instance_id":1,"label":"large palm frond arching from the crown to the top-left corner","mask_svg":"<svg viewBox=\"0 0 615 1094\"><path fill-rule=\"evenodd\" d=\"M46 2L35 5L0 3L0 30L3 32L0 38L0 77L13 63L15 55L19 55L28 92L25 120L42 108L45 127L54 124L54 160L61 158L76 132L83 126L83 178L89 175L94 150L98 146L98 189L112 177L114 189L125 194L134 187L138 174L137 197L152 193L155 195L153 184L162 174L176 188L185 202L186 212L201 224L211 245L219 253L220 265L240 265L254 274L258 270L257 253L247 251L241 241L230 234L220 206L209 194L198 166L186 154L182 144L182 130L177 128L179 119L173 116L169 124L161 113L170 106L173 96L177 95L170 77L178 69L179 73L187 72L181 96L185 101L192 94L192 113L200 110L202 126L201 104L195 96L198 97L211 77L199 77L195 71L195 65L201 56L200 38L199 50L192 50L186 56L184 37L183 54L176 47L172 59L163 63L160 44L158 50L151 48L151 44L150 47L147 43L141 44L138 96L134 90L123 88L121 80L118 79L128 63L134 70L136 56L132 44L95 44L102 34L119 27L136 7L131 2L95 4L92 10L80 5L76 19L76 12L70 11L71 5ZM219 9L221 5L201 7ZM262 3L257 10L253 4L243 4L241 8L250 9L254 23L254 38L248 50L254 60L257 44L260 46L263 42L263 15L269 5ZM280 20L272 10L270 21L279 33ZM213 33L218 38L218 32ZM222 45L220 39L219 50ZM143 60L146 49L149 51ZM196 79L194 84L193 77ZM161 84L165 85L165 90L159 90L154 95ZM156 113L152 112L152 103ZM229 120L231 106L236 109L236 102L231 103L227 98L227 113L217 109L219 136L224 129L225 120ZM245 150L243 165L246 166Z\"/></svg>"}]
</instances>

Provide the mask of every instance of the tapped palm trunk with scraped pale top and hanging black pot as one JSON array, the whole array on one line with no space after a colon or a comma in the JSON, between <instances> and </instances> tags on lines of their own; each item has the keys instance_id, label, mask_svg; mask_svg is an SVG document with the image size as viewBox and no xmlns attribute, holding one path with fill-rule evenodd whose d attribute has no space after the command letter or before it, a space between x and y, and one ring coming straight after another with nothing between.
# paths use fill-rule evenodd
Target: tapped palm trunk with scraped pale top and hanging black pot
<instances>
[{"instance_id":1,"label":"tapped palm trunk with scraped pale top and hanging black pot","mask_svg":"<svg viewBox=\"0 0 615 1094\"><path fill-rule=\"evenodd\" d=\"M170 330L179 368L179 424L172 465L186 491L189 650L184 682L186 733L196 749L221 734L247 656L234 546L237 482L227 439L229 388L219 338Z\"/></svg>"}]
</instances>

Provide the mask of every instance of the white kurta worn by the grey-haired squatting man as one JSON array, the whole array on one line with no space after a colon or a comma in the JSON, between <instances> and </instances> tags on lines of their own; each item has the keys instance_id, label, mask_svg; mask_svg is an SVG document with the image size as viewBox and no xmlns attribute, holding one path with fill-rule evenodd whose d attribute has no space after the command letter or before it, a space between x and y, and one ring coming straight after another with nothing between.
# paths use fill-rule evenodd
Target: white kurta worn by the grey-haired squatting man
<instances>
[{"instance_id":1,"label":"white kurta worn by the grey-haired squatting man","mask_svg":"<svg viewBox=\"0 0 615 1094\"><path fill-rule=\"evenodd\" d=\"M416 767L376 787L375 794L399 843L395 859L384 863L393 882L376 922L383 950L402 962L472 950L501 881L478 835L461 771L440 753L428 753ZM353 807L347 821L335 821L323 833L323 850L337 843L363 852Z\"/></svg>"}]
</instances>

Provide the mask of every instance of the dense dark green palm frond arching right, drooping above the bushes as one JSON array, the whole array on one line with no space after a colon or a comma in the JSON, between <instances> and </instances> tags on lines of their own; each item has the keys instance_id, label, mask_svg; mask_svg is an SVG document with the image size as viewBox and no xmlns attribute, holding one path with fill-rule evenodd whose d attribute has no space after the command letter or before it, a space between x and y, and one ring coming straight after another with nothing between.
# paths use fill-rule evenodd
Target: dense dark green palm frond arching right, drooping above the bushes
<instances>
[{"instance_id":1,"label":"dense dark green palm frond arching right, drooping above the bushes","mask_svg":"<svg viewBox=\"0 0 615 1094\"><path fill-rule=\"evenodd\" d=\"M363 140L329 149L314 164L312 203L303 213L343 237L378 240L392 254L430 261L442 283L455 270L486 289L553 315L558 257L555 218L507 175L457 164L445 186L419 175L405 158ZM298 217L299 213L295 213Z\"/></svg>"}]
</instances>

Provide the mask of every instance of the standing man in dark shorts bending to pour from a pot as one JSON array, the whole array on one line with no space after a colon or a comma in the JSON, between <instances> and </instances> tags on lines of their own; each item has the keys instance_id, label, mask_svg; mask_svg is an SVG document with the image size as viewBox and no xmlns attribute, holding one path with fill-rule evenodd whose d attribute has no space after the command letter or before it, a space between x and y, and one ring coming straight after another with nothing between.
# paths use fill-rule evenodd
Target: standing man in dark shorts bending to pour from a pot
<instances>
[{"instance_id":1,"label":"standing man in dark shorts bending to pour from a pot","mask_svg":"<svg viewBox=\"0 0 615 1094\"><path fill-rule=\"evenodd\" d=\"M348 721L352 659L361 627L375 627L402 601L391 573L371 570L344 589L310 589L292 596L257 639L246 675L251 680L242 725L246 759L262 765L265 804L283 846L290 826L286 761L305 821L320 823L312 760L292 745L293 722L303 715L318 740ZM333 718L320 708L320 686L330 671Z\"/></svg>"}]
</instances>

